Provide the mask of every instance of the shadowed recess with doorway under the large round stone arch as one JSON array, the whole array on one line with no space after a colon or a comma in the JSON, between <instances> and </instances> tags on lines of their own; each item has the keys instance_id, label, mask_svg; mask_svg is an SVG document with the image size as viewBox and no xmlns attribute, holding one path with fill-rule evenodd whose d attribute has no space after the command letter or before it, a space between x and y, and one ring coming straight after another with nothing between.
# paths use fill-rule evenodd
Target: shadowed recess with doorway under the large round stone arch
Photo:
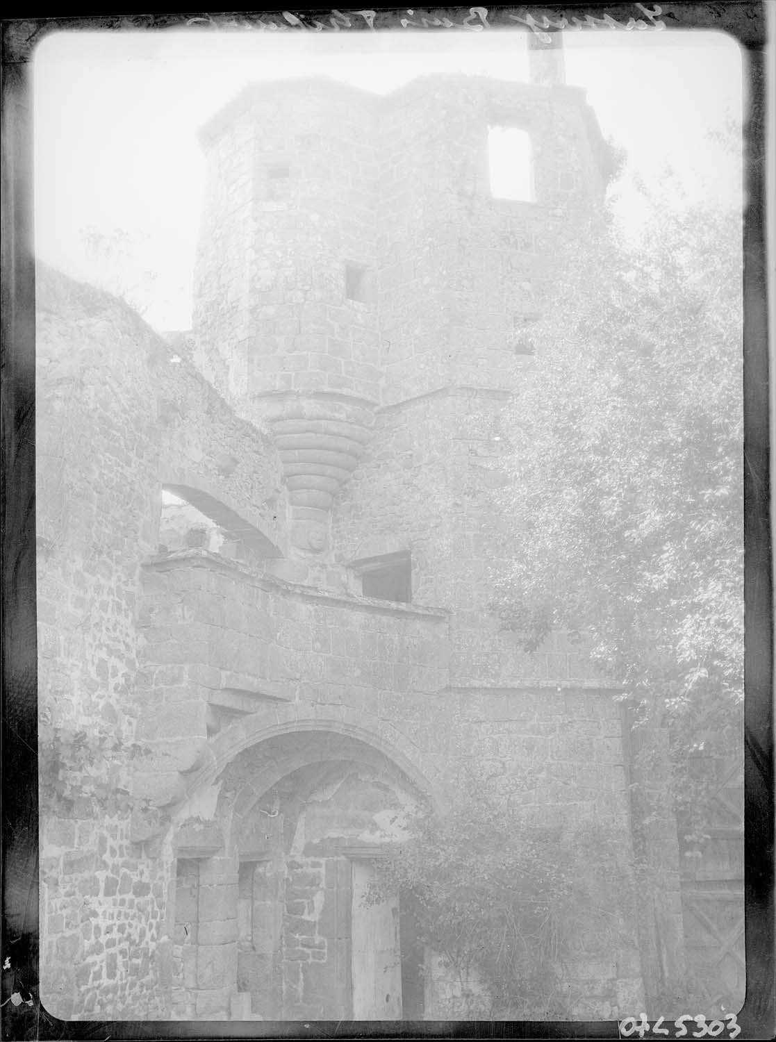
<instances>
[{"instance_id":1,"label":"shadowed recess with doorway under the large round stone arch","mask_svg":"<svg viewBox=\"0 0 776 1042\"><path fill-rule=\"evenodd\" d=\"M230 871L212 859L211 868L200 863L199 879L220 873L232 920L230 950L219 960L234 967L231 1017L421 1019L424 951L412 919L397 898L376 900L370 886L375 860L406 835L424 798L417 785L374 746L325 730L259 742L220 782ZM190 869L181 896L194 907ZM189 977L205 984L194 971Z\"/></svg>"}]
</instances>

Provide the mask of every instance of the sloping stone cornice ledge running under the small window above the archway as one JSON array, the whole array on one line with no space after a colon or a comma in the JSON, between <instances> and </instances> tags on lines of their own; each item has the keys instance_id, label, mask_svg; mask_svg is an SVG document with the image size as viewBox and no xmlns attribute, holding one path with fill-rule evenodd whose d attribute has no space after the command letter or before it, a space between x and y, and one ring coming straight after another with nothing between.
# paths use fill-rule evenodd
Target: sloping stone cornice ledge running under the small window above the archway
<instances>
[{"instance_id":1,"label":"sloping stone cornice ledge running under the small window above the archway","mask_svg":"<svg viewBox=\"0 0 776 1042\"><path fill-rule=\"evenodd\" d=\"M319 604L330 604L334 607L349 607L355 611L368 612L374 615L396 615L409 618L431 619L445 622L450 613L441 607L422 607L419 604L402 604L398 601L377 600L374 597L354 597L347 594L335 594L314 590L300 582L289 582L275 575L258 573L234 564L218 553L209 550L187 549L175 550L164 556L149 557L143 562L143 568L149 571L169 572L180 567L204 568L220 572L222 575L239 575L261 590L276 591L300 600L312 600Z\"/></svg>"}]
</instances>

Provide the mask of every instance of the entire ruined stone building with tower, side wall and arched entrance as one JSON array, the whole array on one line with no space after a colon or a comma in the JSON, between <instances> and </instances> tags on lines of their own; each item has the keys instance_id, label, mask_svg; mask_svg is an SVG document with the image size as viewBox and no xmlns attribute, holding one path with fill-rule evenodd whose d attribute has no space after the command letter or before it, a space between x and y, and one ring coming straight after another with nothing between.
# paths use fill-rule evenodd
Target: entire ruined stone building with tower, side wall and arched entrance
<instances>
[{"instance_id":1,"label":"entire ruined stone building with tower, side wall and arched entrance","mask_svg":"<svg viewBox=\"0 0 776 1042\"><path fill-rule=\"evenodd\" d=\"M487 611L522 330L610 170L584 93L536 68L244 91L201 131L190 334L41 269L41 719L85 731L101 778L79 788L52 740L51 1014L445 1016L444 968L360 895L467 763L531 765L537 814L605 821L628 855L612 691L562 635L528 654ZM511 198L499 134L523 146ZM659 903L570 970L580 1019L637 1015L707 958L675 827L661 857ZM733 990L737 943L714 949Z\"/></svg>"}]
</instances>

